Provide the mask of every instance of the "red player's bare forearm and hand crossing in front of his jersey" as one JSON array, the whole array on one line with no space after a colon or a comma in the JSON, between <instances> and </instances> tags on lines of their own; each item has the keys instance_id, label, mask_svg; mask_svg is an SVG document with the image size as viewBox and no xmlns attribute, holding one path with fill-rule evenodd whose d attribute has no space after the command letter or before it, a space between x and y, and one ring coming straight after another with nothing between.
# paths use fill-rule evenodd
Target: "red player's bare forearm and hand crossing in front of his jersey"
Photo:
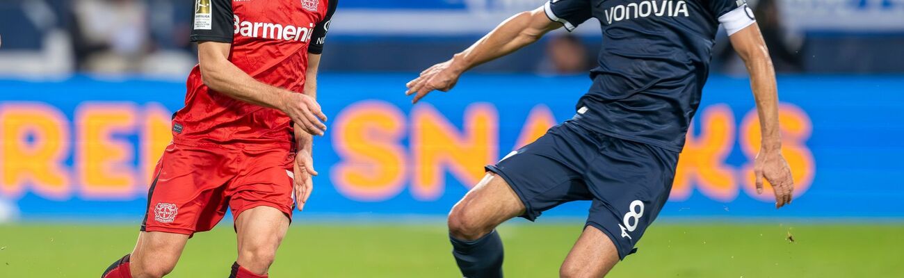
<instances>
[{"instance_id":1,"label":"red player's bare forearm and hand crossing in front of his jersey","mask_svg":"<svg viewBox=\"0 0 904 278\"><path fill-rule=\"evenodd\" d=\"M276 108L301 125L308 134L322 135L326 116L314 97L276 88L251 78L229 60L230 43L198 43L198 61L204 85L245 102Z\"/></svg>"}]
</instances>

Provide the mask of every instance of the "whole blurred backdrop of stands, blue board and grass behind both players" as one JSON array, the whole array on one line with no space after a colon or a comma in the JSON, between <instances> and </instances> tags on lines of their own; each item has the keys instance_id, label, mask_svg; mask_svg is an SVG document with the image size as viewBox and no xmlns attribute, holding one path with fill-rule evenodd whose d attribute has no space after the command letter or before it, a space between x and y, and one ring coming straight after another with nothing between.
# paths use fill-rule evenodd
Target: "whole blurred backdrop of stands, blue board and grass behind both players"
<instances>
[{"instance_id":1,"label":"whole blurred backdrop of stands, blue board and grass behind both players","mask_svg":"<svg viewBox=\"0 0 904 278\"><path fill-rule=\"evenodd\" d=\"M904 1L749 1L779 74L796 200L756 195L758 125L724 32L670 203L615 277L904 277ZM404 84L541 0L342 0L321 63L330 132L271 274L455 277L444 216L483 165L570 118L590 20L411 106ZM98 276L134 244L197 62L193 4L0 0L0 277ZM638 46L643 47L643 46ZM429 140L428 140L429 139ZM212 165L214 167L216 165ZM587 203L501 227L512 277L553 277ZM174 277L221 277L227 220Z\"/></svg>"}]
</instances>

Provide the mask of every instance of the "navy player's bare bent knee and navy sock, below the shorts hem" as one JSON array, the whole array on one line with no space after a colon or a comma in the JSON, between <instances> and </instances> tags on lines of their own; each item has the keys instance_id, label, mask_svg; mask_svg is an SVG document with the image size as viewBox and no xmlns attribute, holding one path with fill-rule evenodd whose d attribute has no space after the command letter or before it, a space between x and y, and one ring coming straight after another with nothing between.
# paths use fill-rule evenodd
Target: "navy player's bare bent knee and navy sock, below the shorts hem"
<instances>
[{"instance_id":1,"label":"navy player's bare bent knee and navy sock, below the shorts hem","mask_svg":"<svg viewBox=\"0 0 904 278\"><path fill-rule=\"evenodd\" d=\"M449 241L458 269L469 278L502 277L503 242L494 228L524 213L502 177L488 173L449 213Z\"/></svg>"}]
</instances>

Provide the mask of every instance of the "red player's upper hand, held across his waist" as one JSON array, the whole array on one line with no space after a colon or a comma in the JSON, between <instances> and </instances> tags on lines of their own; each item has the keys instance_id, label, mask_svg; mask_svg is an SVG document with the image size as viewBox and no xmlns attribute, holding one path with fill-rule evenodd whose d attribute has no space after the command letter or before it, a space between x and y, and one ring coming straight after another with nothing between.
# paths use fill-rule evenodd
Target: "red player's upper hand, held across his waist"
<instances>
[{"instance_id":1,"label":"red player's upper hand, held across his waist","mask_svg":"<svg viewBox=\"0 0 904 278\"><path fill-rule=\"evenodd\" d=\"M326 122L326 116L314 97L295 92L287 92L281 97L279 110L286 113L306 133L324 134L326 125L323 122Z\"/></svg>"}]
</instances>

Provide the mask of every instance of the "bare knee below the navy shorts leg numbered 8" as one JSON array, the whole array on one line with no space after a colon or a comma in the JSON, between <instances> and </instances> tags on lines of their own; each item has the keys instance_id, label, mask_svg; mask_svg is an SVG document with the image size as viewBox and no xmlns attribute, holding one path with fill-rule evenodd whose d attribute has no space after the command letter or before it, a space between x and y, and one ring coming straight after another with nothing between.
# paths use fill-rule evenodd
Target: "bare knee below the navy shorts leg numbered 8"
<instances>
[{"instance_id":1,"label":"bare knee below the navy shorts leg numbered 8","mask_svg":"<svg viewBox=\"0 0 904 278\"><path fill-rule=\"evenodd\" d=\"M597 227L584 227L559 269L560 277L603 277L618 263L615 244Z\"/></svg>"}]
</instances>

